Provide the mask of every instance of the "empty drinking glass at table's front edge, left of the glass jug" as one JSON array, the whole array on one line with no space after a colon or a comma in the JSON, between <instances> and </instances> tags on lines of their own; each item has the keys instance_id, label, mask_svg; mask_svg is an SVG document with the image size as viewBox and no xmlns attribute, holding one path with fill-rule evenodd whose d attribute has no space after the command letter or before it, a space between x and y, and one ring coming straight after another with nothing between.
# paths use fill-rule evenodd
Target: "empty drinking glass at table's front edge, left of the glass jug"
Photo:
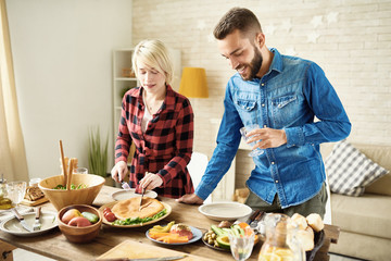
<instances>
[{"instance_id":1,"label":"empty drinking glass at table's front edge, left of the glass jug","mask_svg":"<svg viewBox=\"0 0 391 261\"><path fill-rule=\"evenodd\" d=\"M228 234L229 245L232 257L237 261L243 261L250 258L252 249L254 247L254 233L251 235L236 236Z\"/></svg>"}]
</instances>

